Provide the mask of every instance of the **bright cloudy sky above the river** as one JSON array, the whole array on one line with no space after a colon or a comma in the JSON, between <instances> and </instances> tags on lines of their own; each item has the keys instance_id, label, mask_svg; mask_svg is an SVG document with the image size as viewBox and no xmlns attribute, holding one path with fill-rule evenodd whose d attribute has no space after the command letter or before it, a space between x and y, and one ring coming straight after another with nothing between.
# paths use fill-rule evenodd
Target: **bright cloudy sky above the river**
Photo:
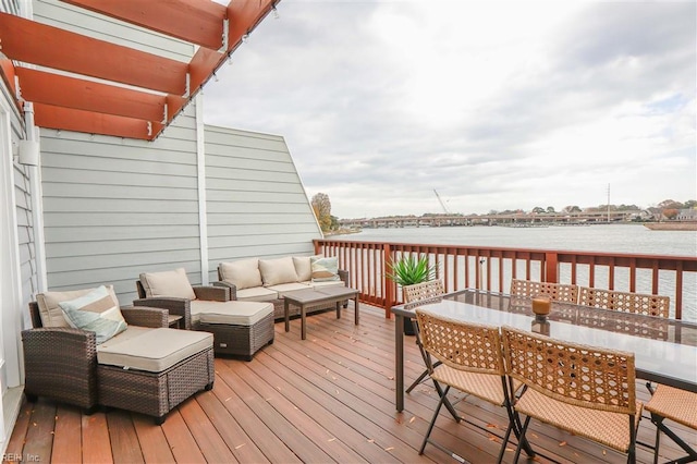
<instances>
[{"instance_id":1,"label":"bright cloudy sky above the river","mask_svg":"<svg viewBox=\"0 0 697 464\"><path fill-rule=\"evenodd\" d=\"M283 0L204 89L341 219L697 199L697 2Z\"/></svg>"}]
</instances>

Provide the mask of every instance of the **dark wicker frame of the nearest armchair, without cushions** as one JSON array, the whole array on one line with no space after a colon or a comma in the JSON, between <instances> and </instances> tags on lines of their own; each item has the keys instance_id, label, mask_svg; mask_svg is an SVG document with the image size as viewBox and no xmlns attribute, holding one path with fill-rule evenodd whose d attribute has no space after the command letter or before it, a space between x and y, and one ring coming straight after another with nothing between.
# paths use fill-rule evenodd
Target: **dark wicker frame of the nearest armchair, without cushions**
<instances>
[{"instance_id":1,"label":"dark wicker frame of the nearest armchair, without cushions","mask_svg":"<svg viewBox=\"0 0 697 464\"><path fill-rule=\"evenodd\" d=\"M97 342L94 332L66 327L45 328L36 302L29 303L33 329L22 331L24 393L82 407L90 414L98 404ZM126 323L167 327L167 312L157 308L121 308Z\"/></svg>"}]
</instances>

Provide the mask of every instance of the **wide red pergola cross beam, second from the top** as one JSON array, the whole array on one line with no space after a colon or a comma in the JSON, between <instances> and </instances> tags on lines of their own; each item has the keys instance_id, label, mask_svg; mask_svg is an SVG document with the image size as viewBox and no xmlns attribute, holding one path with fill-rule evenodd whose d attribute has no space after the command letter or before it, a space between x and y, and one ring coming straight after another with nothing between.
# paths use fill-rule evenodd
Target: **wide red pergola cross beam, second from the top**
<instances>
[{"instance_id":1,"label":"wide red pergola cross beam, second from the top","mask_svg":"<svg viewBox=\"0 0 697 464\"><path fill-rule=\"evenodd\" d=\"M0 13L0 39L8 58L166 94L186 93L181 61L98 40L59 27Z\"/></svg>"}]
</instances>

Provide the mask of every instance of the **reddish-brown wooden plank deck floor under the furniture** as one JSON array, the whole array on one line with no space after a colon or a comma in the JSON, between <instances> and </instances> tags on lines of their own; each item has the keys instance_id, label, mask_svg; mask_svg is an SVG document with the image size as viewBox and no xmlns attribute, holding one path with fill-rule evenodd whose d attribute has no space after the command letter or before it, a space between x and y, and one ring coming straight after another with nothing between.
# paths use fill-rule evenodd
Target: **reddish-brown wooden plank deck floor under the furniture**
<instances>
[{"instance_id":1,"label":"reddish-brown wooden plank deck floor under the furniture","mask_svg":"<svg viewBox=\"0 0 697 464\"><path fill-rule=\"evenodd\" d=\"M200 392L172 411L162 426L123 411L82 415L46 400L23 405L4 459L24 462L211 462L211 463L387 463L454 462L432 445L417 454L437 395L424 384L394 408L394 321L381 309L362 305L360 325L353 309L308 318L307 340L299 320L291 332L276 326L276 342L254 361L216 359L212 391ZM414 343L405 346L407 381L423 369ZM637 388L643 400L648 394ZM433 437L474 463L492 462L506 418L503 411L468 399L455 406L477 427L456 424L441 412ZM533 424L529 438L538 462L625 462L604 447L554 428ZM694 432L676 428L697 444ZM639 440L653 441L643 419ZM511 462L513 448L505 455ZM678 456L664 439L663 457ZM652 451L638 449L639 462ZM523 461L523 460L522 460Z\"/></svg>"}]
</instances>

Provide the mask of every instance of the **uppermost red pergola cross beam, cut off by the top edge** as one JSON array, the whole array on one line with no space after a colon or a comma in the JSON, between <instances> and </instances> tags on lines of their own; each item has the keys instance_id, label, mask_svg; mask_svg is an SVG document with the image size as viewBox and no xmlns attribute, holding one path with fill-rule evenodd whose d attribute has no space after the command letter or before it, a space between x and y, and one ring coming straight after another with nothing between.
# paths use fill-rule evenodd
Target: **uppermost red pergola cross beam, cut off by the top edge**
<instances>
[{"instance_id":1,"label":"uppermost red pergola cross beam, cut off by the top edge","mask_svg":"<svg viewBox=\"0 0 697 464\"><path fill-rule=\"evenodd\" d=\"M62 1L201 47L222 47L225 7L211 0Z\"/></svg>"}]
</instances>

